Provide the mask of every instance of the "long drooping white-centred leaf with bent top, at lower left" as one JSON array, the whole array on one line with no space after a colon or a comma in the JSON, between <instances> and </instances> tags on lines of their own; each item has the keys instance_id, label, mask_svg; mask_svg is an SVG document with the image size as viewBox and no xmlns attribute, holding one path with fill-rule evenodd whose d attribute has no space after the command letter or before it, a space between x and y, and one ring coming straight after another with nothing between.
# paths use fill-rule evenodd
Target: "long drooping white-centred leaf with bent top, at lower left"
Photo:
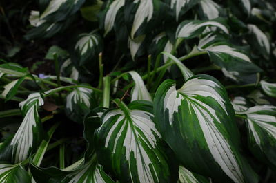
<instances>
[{"instance_id":1,"label":"long drooping white-centred leaf with bent top, at lower left","mask_svg":"<svg viewBox=\"0 0 276 183\"><path fill-rule=\"evenodd\" d=\"M26 100L19 103L24 118L10 142L12 162L17 163L28 158L32 149L40 142L42 128L38 108L43 104L43 96L39 93L30 94Z\"/></svg>"}]
</instances>

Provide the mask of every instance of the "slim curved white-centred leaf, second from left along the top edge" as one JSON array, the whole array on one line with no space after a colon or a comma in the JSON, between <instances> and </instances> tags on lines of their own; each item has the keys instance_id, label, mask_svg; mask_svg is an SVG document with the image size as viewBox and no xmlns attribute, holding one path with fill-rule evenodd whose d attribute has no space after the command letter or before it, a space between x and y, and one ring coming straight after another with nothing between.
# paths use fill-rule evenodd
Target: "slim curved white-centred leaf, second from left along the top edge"
<instances>
[{"instance_id":1,"label":"slim curved white-centred leaf, second from left along the top edge","mask_svg":"<svg viewBox=\"0 0 276 183\"><path fill-rule=\"evenodd\" d=\"M114 27L115 19L119 10L124 7L125 0L115 0L108 5L107 12L104 17L104 36Z\"/></svg>"}]
</instances>

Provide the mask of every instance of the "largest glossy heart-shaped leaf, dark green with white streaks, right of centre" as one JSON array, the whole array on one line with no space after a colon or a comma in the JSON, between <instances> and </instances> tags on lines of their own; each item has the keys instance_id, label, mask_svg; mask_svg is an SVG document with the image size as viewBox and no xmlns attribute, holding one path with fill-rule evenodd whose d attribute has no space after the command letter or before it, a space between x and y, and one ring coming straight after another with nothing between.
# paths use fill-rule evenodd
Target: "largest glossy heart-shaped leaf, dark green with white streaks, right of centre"
<instances>
[{"instance_id":1,"label":"largest glossy heart-shaped leaf, dark green with white streaks, right of centre","mask_svg":"<svg viewBox=\"0 0 276 183\"><path fill-rule=\"evenodd\" d=\"M217 182L257 182L239 153L239 131L226 90L212 76L196 75L176 89L165 80L155 94L161 136L187 169Z\"/></svg>"}]
</instances>

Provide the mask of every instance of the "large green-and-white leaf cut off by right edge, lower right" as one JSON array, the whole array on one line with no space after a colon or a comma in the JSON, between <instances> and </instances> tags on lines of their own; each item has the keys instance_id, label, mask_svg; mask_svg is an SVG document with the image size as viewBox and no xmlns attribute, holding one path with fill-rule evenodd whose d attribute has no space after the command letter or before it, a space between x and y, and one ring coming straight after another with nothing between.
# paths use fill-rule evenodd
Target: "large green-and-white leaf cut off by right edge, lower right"
<instances>
[{"instance_id":1,"label":"large green-and-white leaf cut off by right edge, lower right","mask_svg":"<svg viewBox=\"0 0 276 183\"><path fill-rule=\"evenodd\" d=\"M250 150L276 169L276 107L257 105L237 114L245 114Z\"/></svg>"}]
</instances>

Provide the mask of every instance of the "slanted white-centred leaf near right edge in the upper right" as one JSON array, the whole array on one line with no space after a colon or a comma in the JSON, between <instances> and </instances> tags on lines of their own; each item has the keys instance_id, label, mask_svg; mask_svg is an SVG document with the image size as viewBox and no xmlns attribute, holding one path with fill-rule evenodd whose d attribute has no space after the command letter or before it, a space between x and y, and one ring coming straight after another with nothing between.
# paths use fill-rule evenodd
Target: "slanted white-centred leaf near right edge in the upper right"
<instances>
[{"instance_id":1,"label":"slanted white-centred leaf near right edge in the upper right","mask_svg":"<svg viewBox=\"0 0 276 183\"><path fill-rule=\"evenodd\" d=\"M270 55L270 41L268 40L268 37L262 30L260 30L256 25L253 24L248 24L247 25L249 29L249 33L253 34L253 45L256 45L257 49L262 50L262 53L264 56L269 56ZM256 50L257 50L256 49Z\"/></svg>"}]
</instances>

